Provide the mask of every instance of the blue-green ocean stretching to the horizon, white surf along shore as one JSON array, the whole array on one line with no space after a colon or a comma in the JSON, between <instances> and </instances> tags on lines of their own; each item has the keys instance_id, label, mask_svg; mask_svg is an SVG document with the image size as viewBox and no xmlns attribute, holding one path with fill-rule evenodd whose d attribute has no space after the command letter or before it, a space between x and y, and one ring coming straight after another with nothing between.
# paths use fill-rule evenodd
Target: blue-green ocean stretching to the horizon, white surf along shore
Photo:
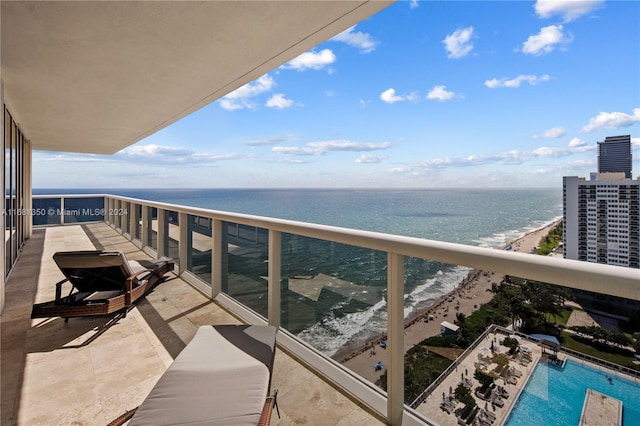
<instances>
[{"instance_id":1,"label":"blue-green ocean stretching to the horizon, white surf along shore","mask_svg":"<svg viewBox=\"0 0 640 426\"><path fill-rule=\"evenodd\" d=\"M492 248L504 247L562 216L560 189L39 189L33 192L109 193ZM309 242L287 240L283 247L295 247L295 250L283 253L282 276L320 277L355 285L347 290L323 289L313 301L309 300L306 290L291 292L291 297L283 298L288 301L283 303L282 317L287 329L331 356L347 344L364 344L384 333L386 258L349 246L317 244L312 248ZM320 256L309 256L309 251L322 253L322 260L317 259ZM407 316L455 289L469 273L465 267L421 259L407 259L405 269ZM301 282L304 285L304 281ZM313 309L308 309L310 306ZM313 315L309 315L310 311Z\"/></svg>"}]
</instances>

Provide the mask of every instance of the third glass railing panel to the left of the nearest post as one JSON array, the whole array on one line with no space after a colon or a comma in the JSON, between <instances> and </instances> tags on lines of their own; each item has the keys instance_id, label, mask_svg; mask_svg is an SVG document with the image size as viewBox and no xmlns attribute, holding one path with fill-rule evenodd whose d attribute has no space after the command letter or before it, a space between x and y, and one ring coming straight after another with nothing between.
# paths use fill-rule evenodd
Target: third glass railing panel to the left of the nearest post
<instances>
[{"instance_id":1,"label":"third glass railing panel to the left of the nearest post","mask_svg":"<svg viewBox=\"0 0 640 426\"><path fill-rule=\"evenodd\" d=\"M211 285L212 220L187 215L187 271Z\"/></svg>"}]
</instances>

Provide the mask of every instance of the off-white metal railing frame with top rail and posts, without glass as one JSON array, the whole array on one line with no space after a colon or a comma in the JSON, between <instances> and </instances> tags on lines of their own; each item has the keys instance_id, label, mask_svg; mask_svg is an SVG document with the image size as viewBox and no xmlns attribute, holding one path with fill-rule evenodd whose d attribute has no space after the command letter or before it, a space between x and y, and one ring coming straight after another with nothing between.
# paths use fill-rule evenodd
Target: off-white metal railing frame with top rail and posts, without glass
<instances>
[{"instance_id":1,"label":"off-white metal railing frame with top rail and posts, without glass","mask_svg":"<svg viewBox=\"0 0 640 426\"><path fill-rule=\"evenodd\" d=\"M325 379L345 389L369 406L388 424L420 424L425 419L404 404L404 258L428 259L479 270L493 271L535 281L640 300L640 274L636 269L534 256L490 248L425 240L370 231L339 228L290 220L187 207L114 195L104 197L104 221L152 256L168 254L169 233L177 232L177 263L181 276L236 315L250 322L265 321L251 309L223 294L223 224L232 222L268 231L268 313L266 321L280 326L280 241L282 233L348 244L387 253L387 392L321 355L306 343L281 329L279 344ZM89 197L57 195L49 198ZM36 197L34 197L36 198ZM139 207L141 206L141 214ZM156 209L155 219L150 209ZM176 221L177 215L177 223ZM211 220L210 286L187 270L188 215ZM172 223L172 227L168 224ZM140 225L139 225L140 224ZM155 229L153 229L153 225ZM156 233L154 243L150 234ZM175 240L175 239L174 239ZM174 241L175 242L175 241Z\"/></svg>"}]
</instances>

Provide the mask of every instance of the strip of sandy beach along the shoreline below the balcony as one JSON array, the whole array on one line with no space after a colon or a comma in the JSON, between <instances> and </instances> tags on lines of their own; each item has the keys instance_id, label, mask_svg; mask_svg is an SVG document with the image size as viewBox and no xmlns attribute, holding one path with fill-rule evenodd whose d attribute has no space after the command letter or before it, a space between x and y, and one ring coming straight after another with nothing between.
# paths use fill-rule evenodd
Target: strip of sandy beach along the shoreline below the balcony
<instances>
[{"instance_id":1,"label":"strip of sandy beach along the shoreline below the balcony","mask_svg":"<svg viewBox=\"0 0 640 426\"><path fill-rule=\"evenodd\" d=\"M530 253L538 245L540 239L547 235L556 223L553 222L531 231L508 243L505 247L511 245L513 251ZM443 296L434 306L407 320L404 331L405 353L427 337L440 334L440 323L442 321L453 323L456 313L462 312L469 316L481 305L489 302L493 297L493 294L489 291L491 283L499 283L503 277L504 275L492 272L486 274L482 271L472 272L456 290ZM448 301L448 299L451 301ZM433 320L424 322L425 316L430 314L433 315ZM376 371L374 364L380 361L383 365L386 365L387 354L379 342L370 342L358 351L338 357L338 360L355 373L375 383L384 373L384 370Z\"/></svg>"}]
</instances>

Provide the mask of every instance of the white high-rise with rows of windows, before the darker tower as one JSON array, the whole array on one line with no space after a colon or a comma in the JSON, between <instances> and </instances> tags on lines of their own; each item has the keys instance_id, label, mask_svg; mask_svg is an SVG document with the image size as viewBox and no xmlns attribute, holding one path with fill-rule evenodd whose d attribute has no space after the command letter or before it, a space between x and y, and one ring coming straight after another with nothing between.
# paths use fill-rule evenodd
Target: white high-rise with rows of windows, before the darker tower
<instances>
[{"instance_id":1,"label":"white high-rise with rows of windows, before the darker tower","mask_svg":"<svg viewBox=\"0 0 640 426\"><path fill-rule=\"evenodd\" d=\"M640 268L640 180L599 173L563 178L564 257Z\"/></svg>"}]
</instances>

